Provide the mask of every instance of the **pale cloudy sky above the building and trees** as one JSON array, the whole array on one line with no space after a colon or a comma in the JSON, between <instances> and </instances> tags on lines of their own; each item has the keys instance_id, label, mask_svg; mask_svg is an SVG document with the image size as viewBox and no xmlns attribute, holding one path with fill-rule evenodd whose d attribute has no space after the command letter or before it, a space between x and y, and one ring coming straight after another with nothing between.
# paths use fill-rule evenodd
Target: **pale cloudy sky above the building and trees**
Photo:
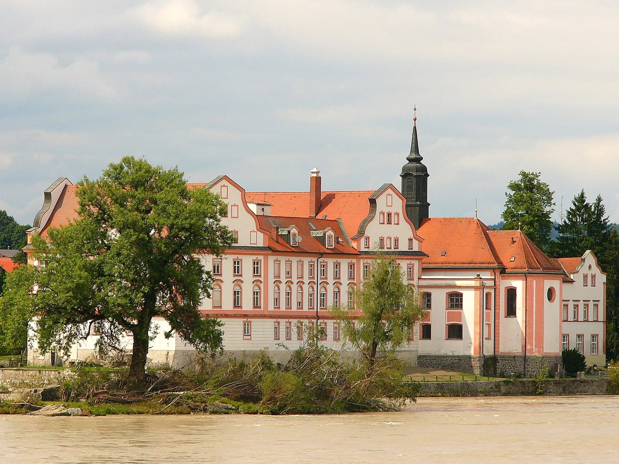
<instances>
[{"instance_id":1,"label":"pale cloudy sky above the building and trees","mask_svg":"<svg viewBox=\"0 0 619 464\"><path fill-rule=\"evenodd\" d=\"M400 186L417 107L431 217L500 220L539 171L558 219L619 221L612 1L0 0L0 209L123 156L247 191Z\"/></svg>"}]
</instances>

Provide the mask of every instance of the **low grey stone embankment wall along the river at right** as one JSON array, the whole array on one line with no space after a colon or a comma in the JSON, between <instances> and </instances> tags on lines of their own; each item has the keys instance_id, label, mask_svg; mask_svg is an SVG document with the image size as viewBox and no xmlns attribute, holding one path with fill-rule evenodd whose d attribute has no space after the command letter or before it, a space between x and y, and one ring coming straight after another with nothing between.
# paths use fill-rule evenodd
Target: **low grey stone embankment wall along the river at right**
<instances>
[{"instance_id":1,"label":"low grey stone embankment wall along the river at right","mask_svg":"<svg viewBox=\"0 0 619 464\"><path fill-rule=\"evenodd\" d=\"M606 379L479 380L477 382L420 382L420 397L497 397L510 395L606 395Z\"/></svg>"}]
</instances>

